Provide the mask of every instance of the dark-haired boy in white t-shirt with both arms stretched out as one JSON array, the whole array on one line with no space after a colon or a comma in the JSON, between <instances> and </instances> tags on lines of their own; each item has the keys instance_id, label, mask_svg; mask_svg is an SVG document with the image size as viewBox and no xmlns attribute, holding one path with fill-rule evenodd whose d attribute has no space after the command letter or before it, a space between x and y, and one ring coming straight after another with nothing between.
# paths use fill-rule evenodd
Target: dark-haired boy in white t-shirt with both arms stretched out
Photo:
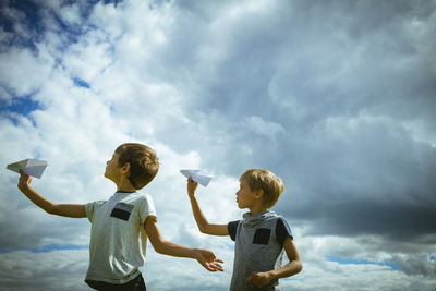
<instances>
[{"instance_id":1,"label":"dark-haired boy in white t-shirt with both arms stretched out","mask_svg":"<svg viewBox=\"0 0 436 291\"><path fill-rule=\"evenodd\" d=\"M144 264L147 238L157 253L195 258L209 271L222 271L222 260L213 252L164 240L152 197L136 192L152 182L158 170L155 151L131 143L119 146L107 162L105 177L117 185L108 201L55 204L32 189L31 177L23 172L19 189L48 214L89 219L89 267L85 281L93 289L146 290L140 267Z\"/></svg>"}]
</instances>

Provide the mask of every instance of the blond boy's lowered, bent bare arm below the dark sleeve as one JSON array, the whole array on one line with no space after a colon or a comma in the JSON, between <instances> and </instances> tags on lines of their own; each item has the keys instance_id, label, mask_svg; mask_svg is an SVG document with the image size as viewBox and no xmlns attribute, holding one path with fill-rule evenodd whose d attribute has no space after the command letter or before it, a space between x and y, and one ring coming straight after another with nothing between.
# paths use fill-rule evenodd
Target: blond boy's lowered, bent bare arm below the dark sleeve
<instances>
[{"instance_id":1,"label":"blond boy's lowered, bent bare arm below the dark sleeve","mask_svg":"<svg viewBox=\"0 0 436 291\"><path fill-rule=\"evenodd\" d=\"M288 255L289 263L281 268L274 269L265 272L253 272L247 279L249 284L261 288L269 283L272 279L280 279L291 277L303 269L303 263L301 262L299 250L291 237L288 237L283 243L284 251Z\"/></svg>"}]
</instances>

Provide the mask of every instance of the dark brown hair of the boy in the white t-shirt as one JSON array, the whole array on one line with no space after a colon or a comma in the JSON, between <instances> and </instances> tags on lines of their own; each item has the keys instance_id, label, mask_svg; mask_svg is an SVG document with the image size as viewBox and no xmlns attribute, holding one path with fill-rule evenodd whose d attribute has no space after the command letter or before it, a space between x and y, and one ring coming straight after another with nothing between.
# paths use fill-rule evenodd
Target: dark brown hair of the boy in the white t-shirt
<instances>
[{"instance_id":1,"label":"dark brown hair of the boy in the white t-shirt","mask_svg":"<svg viewBox=\"0 0 436 291\"><path fill-rule=\"evenodd\" d=\"M119 154L118 166L130 163L129 181L140 190L153 181L159 171L159 160L156 153L146 145L126 143L120 145L116 153Z\"/></svg>"}]
</instances>

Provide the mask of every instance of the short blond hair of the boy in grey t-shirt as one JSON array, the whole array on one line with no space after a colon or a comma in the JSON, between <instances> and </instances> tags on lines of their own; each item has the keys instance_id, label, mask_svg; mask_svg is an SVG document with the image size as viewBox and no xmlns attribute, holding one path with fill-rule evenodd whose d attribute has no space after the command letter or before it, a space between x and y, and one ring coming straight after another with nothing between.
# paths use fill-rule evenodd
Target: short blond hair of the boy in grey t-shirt
<instances>
[{"instance_id":1,"label":"short blond hair of the boy in grey t-shirt","mask_svg":"<svg viewBox=\"0 0 436 291\"><path fill-rule=\"evenodd\" d=\"M264 191L264 205L271 208L283 193L284 185L280 178L265 169L249 169L242 175L251 191Z\"/></svg>"}]
</instances>

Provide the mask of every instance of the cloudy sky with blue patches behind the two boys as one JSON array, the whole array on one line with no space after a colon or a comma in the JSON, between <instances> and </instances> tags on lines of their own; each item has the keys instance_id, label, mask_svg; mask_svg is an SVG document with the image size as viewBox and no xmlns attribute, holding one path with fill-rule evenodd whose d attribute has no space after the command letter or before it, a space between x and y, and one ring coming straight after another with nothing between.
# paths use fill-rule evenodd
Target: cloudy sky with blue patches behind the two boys
<instances>
[{"instance_id":1,"label":"cloudy sky with blue patches behind the two boys","mask_svg":"<svg viewBox=\"0 0 436 291\"><path fill-rule=\"evenodd\" d=\"M282 290L436 288L436 1L0 0L0 290L89 290L87 219L50 216L8 163L48 161L56 203L110 197L118 145L154 148L165 239L149 290L228 290L234 243L196 229L180 169L214 177L208 220L240 219L240 175L283 180L272 208L303 270Z\"/></svg>"}]
</instances>

